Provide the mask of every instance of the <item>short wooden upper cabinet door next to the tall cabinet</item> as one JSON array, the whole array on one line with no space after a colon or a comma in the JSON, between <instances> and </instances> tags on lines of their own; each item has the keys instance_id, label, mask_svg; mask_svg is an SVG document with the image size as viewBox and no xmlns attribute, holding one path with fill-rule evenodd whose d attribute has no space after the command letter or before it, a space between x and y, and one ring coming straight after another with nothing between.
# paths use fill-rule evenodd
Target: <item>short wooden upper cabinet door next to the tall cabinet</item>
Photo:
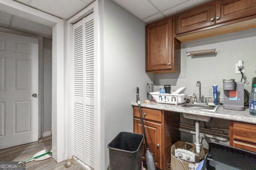
<instances>
[{"instance_id":1,"label":"short wooden upper cabinet door next to the tall cabinet","mask_svg":"<svg viewBox=\"0 0 256 170\"><path fill-rule=\"evenodd\" d=\"M215 2L182 12L176 16L176 34L214 25Z\"/></svg>"}]
</instances>

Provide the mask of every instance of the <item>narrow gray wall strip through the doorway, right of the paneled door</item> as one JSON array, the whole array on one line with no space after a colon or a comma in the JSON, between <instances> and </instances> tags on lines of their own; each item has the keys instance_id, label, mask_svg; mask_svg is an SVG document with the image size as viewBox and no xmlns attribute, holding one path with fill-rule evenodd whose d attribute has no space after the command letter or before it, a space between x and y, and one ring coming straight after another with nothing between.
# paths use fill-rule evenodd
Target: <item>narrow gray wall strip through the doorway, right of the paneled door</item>
<instances>
[{"instance_id":1,"label":"narrow gray wall strip through the doorway, right of the paneled door","mask_svg":"<svg viewBox=\"0 0 256 170\"><path fill-rule=\"evenodd\" d=\"M49 135L52 131L52 39L43 38L44 55L44 124L43 133Z\"/></svg>"}]
</instances>

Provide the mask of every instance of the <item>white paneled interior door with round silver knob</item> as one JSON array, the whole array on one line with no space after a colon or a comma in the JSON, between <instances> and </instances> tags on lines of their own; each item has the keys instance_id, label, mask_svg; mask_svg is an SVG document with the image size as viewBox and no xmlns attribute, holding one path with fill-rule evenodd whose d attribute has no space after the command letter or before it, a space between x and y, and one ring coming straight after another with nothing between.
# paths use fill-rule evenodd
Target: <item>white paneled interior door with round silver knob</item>
<instances>
[{"instance_id":1,"label":"white paneled interior door with round silver knob","mask_svg":"<svg viewBox=\"0 0 256 170\"><path fill-rule=\"evenodd\" d=\"M37 95L38 39L0 32L0 149L38 141Z\"/></svg>"}]
</instances>

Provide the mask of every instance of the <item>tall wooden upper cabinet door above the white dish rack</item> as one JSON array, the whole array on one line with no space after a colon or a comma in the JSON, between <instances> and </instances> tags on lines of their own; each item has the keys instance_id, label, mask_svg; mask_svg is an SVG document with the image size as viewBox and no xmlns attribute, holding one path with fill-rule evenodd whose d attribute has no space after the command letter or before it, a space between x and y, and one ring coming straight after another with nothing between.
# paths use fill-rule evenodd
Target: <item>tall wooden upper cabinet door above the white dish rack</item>
<instances>
[{"instance_id":1,"label":"tall wooden upper cabinet door above the white dish rack","mask_svg":"<svg viewBox=\"0 0 256 170\"><path fill-rule=\"evenodd\" d=\"M146 25L146 71L172 69L172 18Z\"/></svg>"}]
</instances>

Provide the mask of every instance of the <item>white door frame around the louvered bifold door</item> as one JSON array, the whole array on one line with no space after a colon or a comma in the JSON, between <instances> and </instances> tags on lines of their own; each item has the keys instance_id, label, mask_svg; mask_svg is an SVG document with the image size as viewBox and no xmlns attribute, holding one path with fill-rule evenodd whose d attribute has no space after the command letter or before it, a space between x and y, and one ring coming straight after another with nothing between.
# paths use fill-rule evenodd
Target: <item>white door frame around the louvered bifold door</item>
<instances>
[{"instance_id":1,"label":"white door frame around the louvered bifold door","mask_svg":"<svg viewBox=\"0 0 256 170\"><path fill-rule=\"evenodd\" d=\"M94 169L95 170L101 170L104 169L104 133L102 133L102 129L104 129L104 124L100 123L102 120L104 121L103 117L104 115L101 115L101 106L102 106L102 98L103 93L102 85L100 85L102 81L102 75L103 72L103 60L100 59L100 21L99 21L99 10L98 10L98 0L90 4L88 7L86 7L84 10L76 14L74 17L70 18L67 21L67 51L66 51L66 118L68 121L67 123L67 143L68 143L68 158L72 158L74 155L74 125L73 125L73 24L74 22L78 21L79 19L82 19L86 14L90 14L90 12L93 11L94 14L94 25L96 30L94 31L94 79L96 80L94 82L94 111L95 111L95 162L94 162ZM101 76L101 77L100 77ZM101 132L101 133L100 133ZM103 145L102 145L103 144Z\"/></svg>"}]
</instances>

